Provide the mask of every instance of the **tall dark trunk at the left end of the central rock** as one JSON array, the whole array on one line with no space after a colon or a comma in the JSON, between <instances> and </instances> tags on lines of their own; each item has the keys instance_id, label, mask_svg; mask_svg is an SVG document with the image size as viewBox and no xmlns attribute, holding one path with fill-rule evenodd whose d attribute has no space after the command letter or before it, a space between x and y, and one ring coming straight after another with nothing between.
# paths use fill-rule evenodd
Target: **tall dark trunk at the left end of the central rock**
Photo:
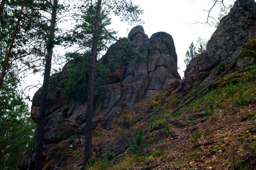
<instances>
[{"instance_id":1,"label":"tall dark trunk at the left end of the central rock","mask_svg":"<svg viewBox=\"0 0 256 170\"><path fill-rule=\"evenodd\" d=\"M53 0L52 4L52 18L49 32L48 43L50 44L47 47L45 69L44 69L44 82L41 93L40 100L40 109L38 116L37 124L37 134L36 134L36 150L35 150L35 170L42 170L42 159L43 159L43 145L44 145L44 127L45 127L45 112L46 112L46 102L48 95L48 86L51 74L51 64L52 64L52 51L53 51L53 42L54 42L54 33L55 33L55 23L56 23L56 14L57 14L57 5L58 0Z\"/></svg>"}]
</instances>

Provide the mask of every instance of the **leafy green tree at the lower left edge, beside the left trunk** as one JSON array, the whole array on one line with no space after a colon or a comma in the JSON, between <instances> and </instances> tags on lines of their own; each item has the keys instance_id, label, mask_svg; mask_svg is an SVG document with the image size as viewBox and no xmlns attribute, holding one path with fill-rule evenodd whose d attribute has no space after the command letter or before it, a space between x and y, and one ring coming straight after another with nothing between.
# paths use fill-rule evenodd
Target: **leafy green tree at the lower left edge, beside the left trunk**
<instances>
[{"instance_id":1,"label":"leafy green tree at the lower left edge, beside the left trunk","mask_svg":"<svg viewBox=\"0 0 256 170\"><path fill-rule=\"evenodd\" d=\"M17 91L17 79L9 70L0 92L0 164L14 168L32 147L35 123Z\"/></svg>"}]
</instances>

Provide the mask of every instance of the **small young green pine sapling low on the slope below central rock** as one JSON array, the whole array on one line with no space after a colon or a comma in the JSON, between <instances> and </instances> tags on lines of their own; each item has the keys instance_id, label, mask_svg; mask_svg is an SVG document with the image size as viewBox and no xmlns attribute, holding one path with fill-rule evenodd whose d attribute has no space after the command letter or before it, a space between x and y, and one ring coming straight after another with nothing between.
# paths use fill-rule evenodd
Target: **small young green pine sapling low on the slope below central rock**
<instances>
[{"instance_id":1,"label":"small young green pine sapling low on the slope below central rock","mask_svg":"<svg viewBox=\"0 0 256 170\"><path fill-rule=\"evenodd\" d=\"M138 134L134 133L135 140L131 142L131 153L134 154L142 154L144 153L144 147L145 147L145 137L143 137L144 131L141 129L139 130Z\"/></svg>"}]
</instances>

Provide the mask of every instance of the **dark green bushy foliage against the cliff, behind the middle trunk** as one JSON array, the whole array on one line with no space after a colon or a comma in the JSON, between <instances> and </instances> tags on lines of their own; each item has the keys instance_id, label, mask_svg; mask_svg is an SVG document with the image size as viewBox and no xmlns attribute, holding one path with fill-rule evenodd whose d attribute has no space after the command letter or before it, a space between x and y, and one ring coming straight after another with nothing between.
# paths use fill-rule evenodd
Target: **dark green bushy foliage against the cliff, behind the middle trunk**
<instances>
[{"instance_id":1,"label":"dark green bushy foliage against the cliff, behind the middle trunk","mask_svg":"<svg viewBox=\"0 0 256 170\"><path fill-rule=\"evenodd\" d=\"M68 74L65 79L64 94L69 99L85 99L87 96L87 83L89 77L89 63L90 53L67 53L66 57L70 62L68 63ZM102 62L96 63L95 74L95 88L102 84L110 74L110 70L102 64Z\"/></svg>"}]
</instances>

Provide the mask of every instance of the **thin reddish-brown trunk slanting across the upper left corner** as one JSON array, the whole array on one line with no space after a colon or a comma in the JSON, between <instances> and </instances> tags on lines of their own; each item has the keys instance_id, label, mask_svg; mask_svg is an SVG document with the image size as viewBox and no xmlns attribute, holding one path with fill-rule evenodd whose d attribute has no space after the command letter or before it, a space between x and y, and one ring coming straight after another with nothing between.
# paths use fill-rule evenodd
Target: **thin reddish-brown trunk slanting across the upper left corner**
<instances>
[{"instance_id":1,"label":"thin reddish-brown trunk slanting across the upper left corner","mask_svg":"<svg viewBox=\"0 0 256 170\"><path fill-rule=\"evenodd\" d=\"M3 10L2 10L2 3L3 3L3 0L1 1L1 16L2 16L2 13L3 13ZM4 2L5 3L5 2ZM0 77L0 91L2 89L2 86L3 86L3 79L6 75L6 70L8 68L8 64L9 64L9 59L11 57L11 54L12 54L12 48L13 48L13 44L14 44L14 41L15 41L15 38L16 38L16 34L17 34L17 31L18 31L18 28L19 28L19 25L20 25L20 20L21 20L21 16L22 16L22 11L23 11L23 8L25 6L25 3L26 3L26 0L23 0L23 3L22 3L22 6L21 6L21 9L20 9L20 15L18 17L18 20L17 20L17 23L16 23L16 26L15 26L15 29L14 29L14 32L13 32L13 35L12 35L12 40L11 40L11 43L9 45L9 49L8 49L8 53L4 59L4 65L3 65L3 70L2 70L2 74L1 74L1 77ZM4 4L3 4L4 6Z\"/></svg>"}]
</instances>

